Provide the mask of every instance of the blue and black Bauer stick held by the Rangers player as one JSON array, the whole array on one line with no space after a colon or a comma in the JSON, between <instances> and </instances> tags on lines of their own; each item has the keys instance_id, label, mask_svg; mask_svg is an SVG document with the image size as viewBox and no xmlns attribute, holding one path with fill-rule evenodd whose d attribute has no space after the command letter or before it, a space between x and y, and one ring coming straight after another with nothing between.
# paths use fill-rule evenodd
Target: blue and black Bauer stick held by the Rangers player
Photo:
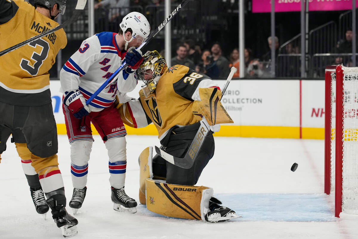
<instances>
[{"instance_id":1,"label":"blue and black Bauer stick held by the Rangers player","mask_svg":"<svg viewBox=\"0 0 358 239\"><path fill-rule=\"evenodd\" d=\"M173 12L163 21L163 23L161 23L159 25L158 28L155 29L154 32L152 32L148 38L137 48L137 49L142 49L143 47L145 47L146 44L148 44L158 33L159 31L178 13L178 11L182 10L182 8L185 6L185 4L187 4L190 0L183 0L182 3L179 4L179 6L176 7L176 9L173 10ZM95 99L95 97L100 94L100 92L105 89L107 87L107 85L109 83L112 82L112 80L118 75L119 72L121 72L123 70L123 68L127 66L126 61L124 61L122 63L122 65L110 76L110 78L108 78L108 80L106 80L101 86L100 88L98 88L98 90L96 90L95 93L93 93L93 95L91 97L88 98L88 100L86 101L86 105L88 105L89 103L91 103L91 101L93 99Z\"/></svg>"}]
</instances>

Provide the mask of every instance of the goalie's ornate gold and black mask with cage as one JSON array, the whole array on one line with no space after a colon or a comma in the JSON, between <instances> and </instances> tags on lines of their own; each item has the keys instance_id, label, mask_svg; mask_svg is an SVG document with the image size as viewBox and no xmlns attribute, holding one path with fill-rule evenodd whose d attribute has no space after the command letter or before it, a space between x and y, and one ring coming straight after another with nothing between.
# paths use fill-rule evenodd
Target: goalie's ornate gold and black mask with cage
<instances>
[{"instance_id":1,"label":"goalie's ornate gold and black mask with cage","mask_svg":"<svg viewBox=\"0 0 358 239\"><path fill-rule=\"evenodd\" d=\"M144 54L142 64L140 64L136 75L145 83L142 86L145 96L155 91L159 78L166 68L168 67L165 59L157 51L148 51Z\"/></svg>"}]
</instances>

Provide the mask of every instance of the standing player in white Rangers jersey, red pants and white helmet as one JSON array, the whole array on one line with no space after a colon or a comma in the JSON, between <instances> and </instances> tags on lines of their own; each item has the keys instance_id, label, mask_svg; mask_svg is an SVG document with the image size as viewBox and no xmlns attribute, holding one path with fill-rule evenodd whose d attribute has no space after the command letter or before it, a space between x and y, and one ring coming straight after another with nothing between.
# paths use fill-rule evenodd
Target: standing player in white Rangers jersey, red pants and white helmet
<instances>
[{"instance_id":1,"label":"standing player in white Rangers jersey, red pants and white helmet","mask_svg":"<svg viewBox=\"0 0 358 239\"><path fill-rule=\"evenodd\" d=\"M120 32L101 32L83 41L64 64L61 73L63 113L71 144L73 195L69 206L74 212L86 196L89 154L93 137L91 122L108 151L113 209L136 212L137 202L124 191L126 172L126 129L115 107L116 95L134 90L136 69L143 57L136 50L150 33L149 22L137 12L127 14ZM127 66L89 105L86 100L105 82L122 62ZM100 159L94 159L100 160Z\"/></svg>"}]
</instances>

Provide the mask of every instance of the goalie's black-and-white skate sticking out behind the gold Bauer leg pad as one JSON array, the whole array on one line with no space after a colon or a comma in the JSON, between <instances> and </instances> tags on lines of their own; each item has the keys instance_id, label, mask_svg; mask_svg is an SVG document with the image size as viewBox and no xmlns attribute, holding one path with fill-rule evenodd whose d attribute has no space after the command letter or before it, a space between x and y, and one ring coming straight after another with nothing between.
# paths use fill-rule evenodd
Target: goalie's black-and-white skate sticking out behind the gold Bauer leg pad
<instances>
[{"instance_id":1,"label":"goalie's black-and-white skate sticking out behind the gold Bauer leg pad","mask_svg":"<svg viewBox=\"0 0 358 239\"><path fill-rule=\"evenodd\" d=\"M235 211L228 207L220 206L222 202L215 197L211 197L209 201L209 209L205 215L205 220L211 223L217 223L218 221L227 221L230 219L242 218L242 216L236 215Z\"/></svg>"}]
</instances>

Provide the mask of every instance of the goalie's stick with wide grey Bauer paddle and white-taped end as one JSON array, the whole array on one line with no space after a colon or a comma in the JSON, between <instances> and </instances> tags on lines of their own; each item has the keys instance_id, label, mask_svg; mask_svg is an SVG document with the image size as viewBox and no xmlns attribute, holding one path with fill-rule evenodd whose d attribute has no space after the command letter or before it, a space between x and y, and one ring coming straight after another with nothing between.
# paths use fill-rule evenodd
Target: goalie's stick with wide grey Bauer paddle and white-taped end
<instances>
[{"instance_id":1,"label":"goalie's stick with wide grey Bauer paddle and white-taped end","mask_svg":"<svg viewBox=\"0 0 358 239\"><path fill-rule=\"evenodd\" d=\"M231 67L230 74L227 77L227 80L223 87L223 90L221 91L221 99L224 96L227 86L229 85L231 78L235 72L236 72L236 68ZM193 140L192 144L190 145L184 158L178 158L173 155L170 155L156 146L155 146L155 152L157 152L162 158L164 158L169 163L172 163L172 164L179 166L181 168L191 168L194 164L195 159L198 156L200 148L202 147L204 139L208 135L209 131L210 131L210 126L209 126L208 122L206 121L205 117L203 116L203 119L200 120L199 130L198 130L197 134L195 135L194 140Z\"/></svg>"}]
</instances>

